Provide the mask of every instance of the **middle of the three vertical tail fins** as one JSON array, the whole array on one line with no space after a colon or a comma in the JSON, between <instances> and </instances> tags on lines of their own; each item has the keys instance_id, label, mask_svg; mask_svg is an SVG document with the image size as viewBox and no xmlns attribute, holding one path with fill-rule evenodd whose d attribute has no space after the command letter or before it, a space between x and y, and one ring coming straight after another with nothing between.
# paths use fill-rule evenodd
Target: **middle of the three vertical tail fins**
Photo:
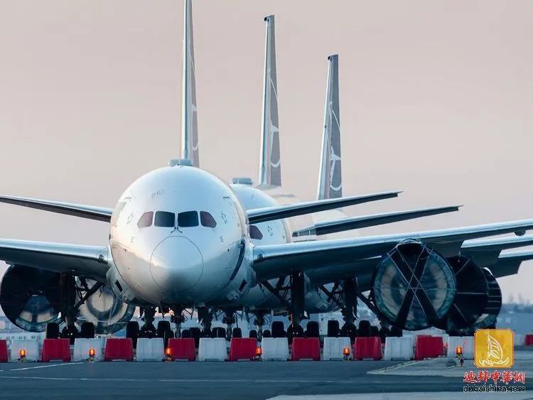
<instances>
[{"instance_id":1,"label":"middle of the three vertical tail fins","mask_svg":"<svg viewBox=\"0 0 533 400\"><path fill-rule=\"evenodd\" d=\"M258 184L281 186L281 154L279 153L274 16L267 16L264 18L264 21L266 21L266 40L264 55L261 158L259 161Z\"/></svg>"}]
</instances>

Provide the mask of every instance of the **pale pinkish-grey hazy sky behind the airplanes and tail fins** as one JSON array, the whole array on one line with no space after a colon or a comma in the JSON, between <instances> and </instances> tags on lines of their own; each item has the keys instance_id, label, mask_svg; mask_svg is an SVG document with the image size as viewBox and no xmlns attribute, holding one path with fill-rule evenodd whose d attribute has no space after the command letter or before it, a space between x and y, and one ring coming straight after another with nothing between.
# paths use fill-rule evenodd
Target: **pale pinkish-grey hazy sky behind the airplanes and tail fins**
<instances>
[{"instance_id":1,"label":"pale pinkish-grey hazy sky behind the airplanes and tail fins","mask_svg":"<svg viewBox=\"0 0 533 400\"><path fill-rule=\"evenodd\" d=\"M182 1L0 0L0 193L114 206L179 155ZM340 54L350 215L464 204L364 232L533 217L532 1L193 1L200 163L257 180L264 16L276 16L282 180L316 195ZM106 244L102 222L0 205L0 237ZM533 300L533 263L501 279Z\"/></svg>"}]
</instances>

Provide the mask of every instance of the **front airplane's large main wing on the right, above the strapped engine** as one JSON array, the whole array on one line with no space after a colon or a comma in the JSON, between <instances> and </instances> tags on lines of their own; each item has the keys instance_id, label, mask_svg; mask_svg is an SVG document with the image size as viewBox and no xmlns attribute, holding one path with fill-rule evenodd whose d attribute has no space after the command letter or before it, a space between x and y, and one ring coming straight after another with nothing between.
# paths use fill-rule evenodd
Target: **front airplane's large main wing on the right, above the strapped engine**
<instances>
[{"instance_id":1,"label":"front airplane's large main wing on the right, above the strapped engine","mask_svg":"<svg viewBox=\"0 0 533 400\"><path fill-rule=\"evenodd\" d=\"M323 240L271 244L254 248L254 270L257 279L271 279L291 271L311 271L322 267L380 256L400 242L415 239L432 247L443 256L460 252L465 240L533 229L533 220L502 222L454 229L441 229L407 234L389 234L353 239Z\"/></svg>"}]
</instances>

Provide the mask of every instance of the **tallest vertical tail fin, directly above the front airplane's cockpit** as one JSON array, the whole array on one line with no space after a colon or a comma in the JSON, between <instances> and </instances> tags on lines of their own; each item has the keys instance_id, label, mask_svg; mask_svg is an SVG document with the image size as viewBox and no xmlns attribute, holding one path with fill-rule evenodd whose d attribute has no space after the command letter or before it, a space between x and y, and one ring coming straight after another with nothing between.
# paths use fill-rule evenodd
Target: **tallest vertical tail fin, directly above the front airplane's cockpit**
<instances>
[{"instance_id":1,"label":"tallest vertical tail fin, directly above the front airplane's cockpit","mask_svg":"<svg viewBox=\"0 0 533 400\"><path fill-rule=\"evenodd\" d=\"M198 155L198 116L196 114L196 80L194 70L193 6L185 0L183 13L183 85L181 99L181 158L200 166Z\"/></svg>"}]
</instances>

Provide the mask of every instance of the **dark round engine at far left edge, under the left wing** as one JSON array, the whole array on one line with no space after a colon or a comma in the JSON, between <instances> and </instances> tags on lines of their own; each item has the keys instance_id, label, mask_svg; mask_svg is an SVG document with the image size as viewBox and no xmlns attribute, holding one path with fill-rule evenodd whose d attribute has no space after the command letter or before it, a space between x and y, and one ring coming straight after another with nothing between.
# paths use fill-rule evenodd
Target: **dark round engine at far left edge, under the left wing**
<instances>
[{"instance_id":1,"label":"dark round engine at far left edge, under the left wing","mask_svg":"<svg viewBox=\"0 0 533 400\"><path fill-rule=\"evenodd\" d=\"M12 265L0 283L0 306L18 328L43 332L60 322L61 275L25 265Z\"/></svg>"}]
</instances>

